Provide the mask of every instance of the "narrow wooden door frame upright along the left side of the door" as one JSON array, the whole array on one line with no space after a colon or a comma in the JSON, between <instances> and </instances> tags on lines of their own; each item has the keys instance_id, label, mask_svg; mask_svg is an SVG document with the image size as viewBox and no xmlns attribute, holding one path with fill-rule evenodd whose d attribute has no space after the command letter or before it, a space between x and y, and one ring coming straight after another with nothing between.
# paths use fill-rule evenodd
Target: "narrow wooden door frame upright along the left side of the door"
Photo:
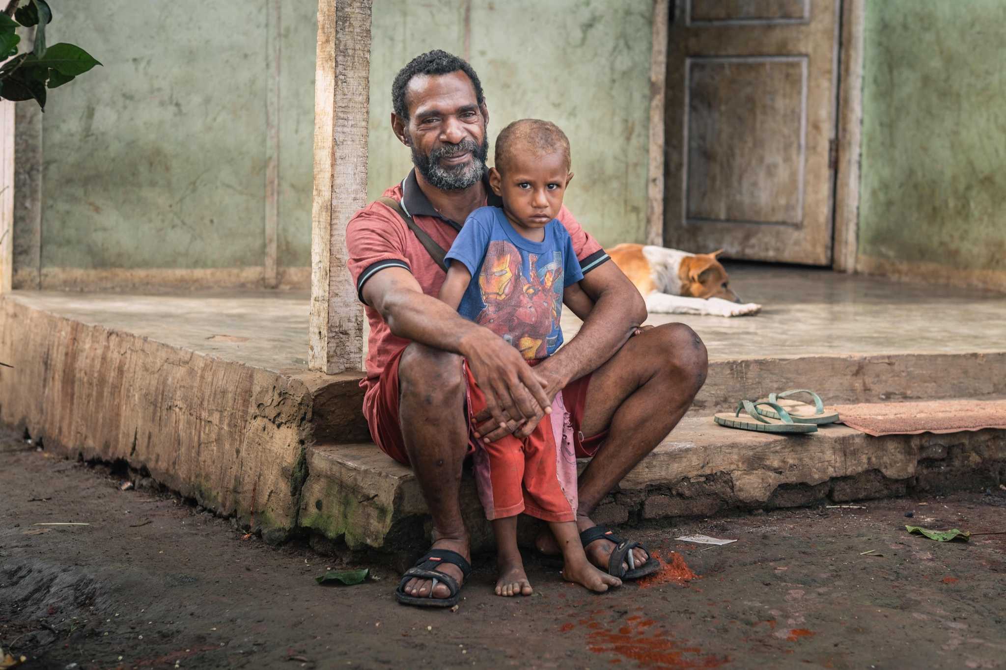
<instances>
[{"instance_id":1,"label":"narrow wooden door frame upright along the left side of the door","mask_svg":"<svg viewBox=\"0 0 1006 670\"><path fill-rule=\"evenodd\" d=\"M653 0L650 52L650 165L646 185L646 243L664 245L664 97L670 0Z\"/></svg>"}]
</instances>

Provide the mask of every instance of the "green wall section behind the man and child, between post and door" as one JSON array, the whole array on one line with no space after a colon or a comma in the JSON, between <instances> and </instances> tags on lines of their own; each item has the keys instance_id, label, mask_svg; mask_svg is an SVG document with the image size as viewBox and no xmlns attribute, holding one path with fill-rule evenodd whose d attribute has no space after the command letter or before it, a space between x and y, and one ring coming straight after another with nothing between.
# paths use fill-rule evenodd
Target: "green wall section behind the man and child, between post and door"
<instances>
[{"instance_id":1,"label":"green wall section behind the man and child, between post and door","mask_svg":"<svg viewBox=\"0 0 1006 670\"><path fill-rule=\"evenodd\" d=\"M381 5L405 8L405 18L378 11ZM463 54L464 5L464 0L374 2L371 197L411 167L408 151L391 134L391 80L409 58L430 48ZM652 0L472 0L471 5L470 60L489 105L490 140L518 119L557 124L569 137L576 174L566 205L604 244L642 242ZM427 29L415 30L421 24Z\"/></svg>"}]
</instances>

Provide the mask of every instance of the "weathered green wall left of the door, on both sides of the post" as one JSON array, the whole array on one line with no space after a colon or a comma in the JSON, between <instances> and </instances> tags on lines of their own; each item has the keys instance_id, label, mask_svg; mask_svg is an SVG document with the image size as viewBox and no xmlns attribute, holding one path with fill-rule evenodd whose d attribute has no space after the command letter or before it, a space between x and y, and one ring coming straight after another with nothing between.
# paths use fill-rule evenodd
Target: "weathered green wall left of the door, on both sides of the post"
<instances>
[{"instance_id":1,"label":"weathered green wall left of the door, on both sides of the post","mask_svg":"<svg viewBox=\"0 0 1006 670\"><path fill-rule=\"evenodd\" d=\"M52 91L43 116L43 273L261 267L267 0L52 5L50 43L73 41L105 66ZM374 1L371 197L410 167L390 131L391 79L430 48L464 53L465 5ZM577 175L567 204L605 243L644 236L651 5L470 3L471 60L490 106L490 138L523 117L562 127ZM283 1L281 11L278 260L304 267L317 3Z\"/></svg>"}]
</instances>

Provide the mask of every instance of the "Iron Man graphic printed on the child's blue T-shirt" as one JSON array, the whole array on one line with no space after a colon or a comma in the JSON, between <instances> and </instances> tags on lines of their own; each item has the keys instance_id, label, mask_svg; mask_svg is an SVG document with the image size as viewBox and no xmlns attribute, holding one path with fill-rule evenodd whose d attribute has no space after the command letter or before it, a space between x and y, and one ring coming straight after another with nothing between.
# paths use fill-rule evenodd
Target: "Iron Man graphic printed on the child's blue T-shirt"
<instances>
[{"instance_id":1,"label":"Iron Man graphic printed on the child's blue T-shirt","mask_svg":"<svg viewBox=\"0 0 1006 670\"><path fill-rule=\"evenodd\" d=\"M538 257L528 256L530 277L522 272L520 251L506 240L493 240L479 273L479 288L486 305L477 321L517 348L525 360L542 359L556 338L562 304L561 254L536 268ZM556 290L558 288L559 290Z\"/></svg>"}]
</instances>

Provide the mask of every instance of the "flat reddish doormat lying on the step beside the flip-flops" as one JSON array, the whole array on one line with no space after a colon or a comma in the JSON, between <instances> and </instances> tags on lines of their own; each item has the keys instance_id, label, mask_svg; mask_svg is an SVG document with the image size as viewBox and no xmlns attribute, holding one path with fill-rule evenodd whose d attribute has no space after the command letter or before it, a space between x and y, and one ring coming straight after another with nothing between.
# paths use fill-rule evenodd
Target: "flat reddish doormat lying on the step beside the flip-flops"
<instances>
[{"instance_id":1,"label":"flat reddish doormat lying on the step beside the flip-flops","mask_svg":"<svg viewBox=\"0 0 1006 670\"><path fill-rule=\"evenodd\" d=\"M828 409L838 412L841 423L873 437L1006 429L1006 400L860 403L829 406Z\"/></svg>"}]
</instances>

